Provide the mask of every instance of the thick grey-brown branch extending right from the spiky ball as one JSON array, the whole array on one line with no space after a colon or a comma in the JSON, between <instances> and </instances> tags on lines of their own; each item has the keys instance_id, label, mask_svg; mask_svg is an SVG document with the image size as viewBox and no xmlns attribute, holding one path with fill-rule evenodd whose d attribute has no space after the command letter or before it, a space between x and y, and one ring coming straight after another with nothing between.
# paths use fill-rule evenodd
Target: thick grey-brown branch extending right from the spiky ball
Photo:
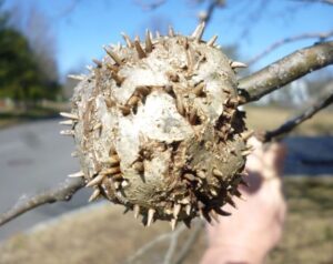
<instances>
[{"instance_id":1,"label":"thick grey-brown branch extending right from the spiky ball","mask_svg":"<svg viewBox=\"0 0 333 264\"><path fill-rule=\"evenodd\" d=\"M282 58L239 82L240 103L258 101L285 84L333 63L333 41L323 42Z\"/></svg>"}]
</instances>

